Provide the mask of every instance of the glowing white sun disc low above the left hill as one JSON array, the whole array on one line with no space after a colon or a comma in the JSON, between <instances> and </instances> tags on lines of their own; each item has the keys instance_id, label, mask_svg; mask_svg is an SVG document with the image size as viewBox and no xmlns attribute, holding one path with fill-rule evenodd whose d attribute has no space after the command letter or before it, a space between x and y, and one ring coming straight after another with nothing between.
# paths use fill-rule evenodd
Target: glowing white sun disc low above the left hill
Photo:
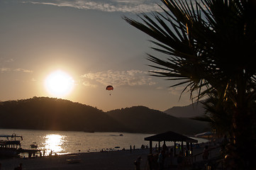
<instances>
[{"instance_id":1,"label":"glowing white sun disc low above the left hill","mask_svg":"<svg viewBox=\"0 0 256 170\"><path fill-rule=\"evenodd\" d=\"M57 70L45 79L45 89L55 97L67 96L74 87L74 79L69 74Z\"/></svg>"}]
</instances>

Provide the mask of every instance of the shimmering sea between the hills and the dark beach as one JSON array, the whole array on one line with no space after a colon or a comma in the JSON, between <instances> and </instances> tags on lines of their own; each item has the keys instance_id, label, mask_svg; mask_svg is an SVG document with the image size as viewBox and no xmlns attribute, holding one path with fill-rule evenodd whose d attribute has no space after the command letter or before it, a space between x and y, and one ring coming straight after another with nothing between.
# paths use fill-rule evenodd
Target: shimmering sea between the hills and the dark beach
<instances>
[{"instance_id":1,"label":"shimmering sea between the hills and the dark beach","mask_svg":"<svg viewBox=\"0 0 256 170\"><path fill-rule=\"evenodd\" d=\"M44 151L45 156L50 153L60 155L79 152L108 152L130 149L130 146L139 149L142 145L149 145L149 142L144 140L145 137L155 135L128 132L0 129L0 135L14 134L22 136L21 148L31 149L30 145L38 145L37 149ZM200 138L194 139L199 140L199 142L206 142L206 140ZM157 144L158 142L155 143ZM169 145L173 145L173 142L170 142ZM154 142L153 146L155 146Z\"/></svg>"}]
</instances>

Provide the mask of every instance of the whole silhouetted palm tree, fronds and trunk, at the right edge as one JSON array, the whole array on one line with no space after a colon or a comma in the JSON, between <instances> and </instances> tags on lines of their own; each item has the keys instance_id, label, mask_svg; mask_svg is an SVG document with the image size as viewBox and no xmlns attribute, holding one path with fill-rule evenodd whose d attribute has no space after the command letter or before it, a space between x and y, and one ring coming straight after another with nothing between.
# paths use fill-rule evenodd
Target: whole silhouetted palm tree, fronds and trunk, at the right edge
<instances>
[{"instance_id":1,"label":"whole silhouetted palm tree, fronds and trunk, at the right edge","mask_svg":"<svg viewBox=\"0 0 256 170\"><path fill-rule=\"evenodd\" d=\"M230 166L254 169L256 159L256 3L254 0L161 0L162 12L123 17L150 35L152 75L185 85L191 99L217 93L232 116ZM161 55L162 56L162 55ZM194 96L196 92L196 96Z\"/></svg>"}]
</instances>

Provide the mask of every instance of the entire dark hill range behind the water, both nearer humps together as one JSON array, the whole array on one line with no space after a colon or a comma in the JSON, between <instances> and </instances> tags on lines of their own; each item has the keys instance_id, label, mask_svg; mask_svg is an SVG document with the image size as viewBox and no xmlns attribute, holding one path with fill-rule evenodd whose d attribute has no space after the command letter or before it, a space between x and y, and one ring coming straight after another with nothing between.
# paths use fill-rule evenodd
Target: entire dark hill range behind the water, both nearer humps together
<instances>
[{"instance_id":1,"label":"entire dark hill range behind the water, both nearer humps together","mask_svg":"<svg viewBox=\"0 0 256 170\"><path fill-rule=\"evenodd\" d=\"M48 97L3 101L0 118L0 128L16 129L145 133L172 130L192 135L208 128L204 122L175 118L144 106L105 113L81 103Z\"/></svg>"}]
</instances>

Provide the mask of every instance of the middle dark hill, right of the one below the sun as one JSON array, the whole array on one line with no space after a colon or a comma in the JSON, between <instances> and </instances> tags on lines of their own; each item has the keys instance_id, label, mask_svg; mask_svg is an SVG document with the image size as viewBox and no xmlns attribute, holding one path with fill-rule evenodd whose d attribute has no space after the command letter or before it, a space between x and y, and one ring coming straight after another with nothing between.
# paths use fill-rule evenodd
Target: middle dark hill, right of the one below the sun
<instances>
[{"instance_id":1,"label":"middle dark hill, right of the one below the sun","mask_svg":"<svg viewBox=\"0 0 256 170\"><path fill-rule=\"evenodd\" d=\"M207 123L186 118L175 118L144 106L117 109L108 111L107 114L133 131L154 133L171 130L191 135L208 130Z\"/></svg>"}]
</instances>

